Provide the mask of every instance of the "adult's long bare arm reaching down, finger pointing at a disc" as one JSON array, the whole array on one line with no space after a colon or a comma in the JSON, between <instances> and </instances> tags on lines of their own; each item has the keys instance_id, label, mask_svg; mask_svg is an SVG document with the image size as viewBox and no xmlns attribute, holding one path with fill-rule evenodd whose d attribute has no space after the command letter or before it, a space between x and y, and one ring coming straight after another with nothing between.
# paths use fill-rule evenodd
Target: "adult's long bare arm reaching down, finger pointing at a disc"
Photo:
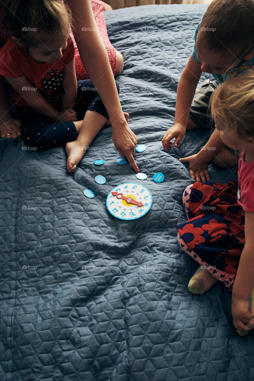
<instances>
[{"instance_id":1,"label":"adult's long bare arm reaching down, finger pointing at a disc","mask_svg":"<svg viewBox=\"0 0 254 381\"><path fill-rule=\"evenodd\" d=\"M66 0L75 21L74 37L80 59L108 112L114 145L136 172L137 136L124 118L106 48L96 27L90 0Z\"/></svg>"}]
</instances>

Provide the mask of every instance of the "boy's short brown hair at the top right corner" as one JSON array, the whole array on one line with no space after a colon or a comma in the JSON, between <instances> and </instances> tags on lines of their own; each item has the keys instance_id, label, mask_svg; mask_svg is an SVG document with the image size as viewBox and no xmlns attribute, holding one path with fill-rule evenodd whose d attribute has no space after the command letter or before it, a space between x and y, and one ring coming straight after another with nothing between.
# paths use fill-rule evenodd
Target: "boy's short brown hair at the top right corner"
<instances>
[{"instance_id":1,"label":"boy's short brown hair at the top right corner","mask_svg":"<svg viewBox=\"0 0 254 381\"><path fill-rule=\"evenodd\" d=\"M254 1L213 0L199 27L208 50L243 58L254 51Z\"/></svg>"}]
</instances>

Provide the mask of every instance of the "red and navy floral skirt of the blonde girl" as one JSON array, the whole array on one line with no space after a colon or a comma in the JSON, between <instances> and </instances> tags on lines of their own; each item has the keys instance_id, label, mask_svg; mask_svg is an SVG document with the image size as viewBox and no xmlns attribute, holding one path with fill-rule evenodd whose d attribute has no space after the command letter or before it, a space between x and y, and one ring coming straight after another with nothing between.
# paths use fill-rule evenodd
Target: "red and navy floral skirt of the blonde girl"
<instances>
[{"instance_id":1,"label":"red and navy floral skirt of the blonde girl","mask_svg":"<svg viewBox=\"0 0 254 381\"><path fill-rule=\"evenodd\" d=\"M188 220L177 225L182 250L230 290L244 247L244 210L238 183L195 182L183 194Z\"/></svg>"}]
</instances>

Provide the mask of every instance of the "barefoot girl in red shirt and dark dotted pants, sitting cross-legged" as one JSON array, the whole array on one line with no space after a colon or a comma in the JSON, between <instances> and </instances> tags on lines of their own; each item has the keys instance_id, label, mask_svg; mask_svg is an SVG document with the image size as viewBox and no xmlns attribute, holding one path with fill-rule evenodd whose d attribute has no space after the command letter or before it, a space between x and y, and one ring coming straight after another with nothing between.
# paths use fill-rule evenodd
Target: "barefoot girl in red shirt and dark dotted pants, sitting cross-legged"
<instances>
[{"instance_id":1,"label":"barefoot girl in red shirt and dark dotted pants, sitting cross-legged","mask_svg":"<svg viewBox=\"0 0 254 381\"><path fill-rule=\"evenodd\" d=\"M0 50L0 74L13 88L23 141L33 150L65 144L72 173L109 121L90 80L77 83L71 15L61 0L15 0L7 5L4 22L12 37Z\"/></svg>"}]
</instances>

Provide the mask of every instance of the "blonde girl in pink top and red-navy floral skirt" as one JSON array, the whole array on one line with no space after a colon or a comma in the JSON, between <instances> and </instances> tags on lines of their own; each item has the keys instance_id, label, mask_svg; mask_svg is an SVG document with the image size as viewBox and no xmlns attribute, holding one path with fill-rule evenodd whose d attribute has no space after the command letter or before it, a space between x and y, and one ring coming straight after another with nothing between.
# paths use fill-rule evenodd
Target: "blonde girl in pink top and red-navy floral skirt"
<instances>
[{"instance_id":1,"label":"blonde girl in pink top and red-navy floral skirt","mask_svg":"<svg viewBox=\"0 0 254 381\"><path fill-rule=\"evenodd\" d=\"M177 226L181 248L201 264L189 290L203 294L218 280L233 288L233 323L240 335L254 327L253 83L254 70L249 70L220 85L211 96L218 141L241 151L238 184L188 186L183 194L188 221Z\"/></svg>"}]
</instances>

